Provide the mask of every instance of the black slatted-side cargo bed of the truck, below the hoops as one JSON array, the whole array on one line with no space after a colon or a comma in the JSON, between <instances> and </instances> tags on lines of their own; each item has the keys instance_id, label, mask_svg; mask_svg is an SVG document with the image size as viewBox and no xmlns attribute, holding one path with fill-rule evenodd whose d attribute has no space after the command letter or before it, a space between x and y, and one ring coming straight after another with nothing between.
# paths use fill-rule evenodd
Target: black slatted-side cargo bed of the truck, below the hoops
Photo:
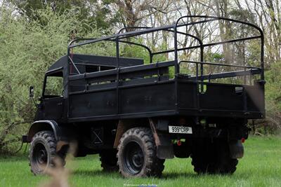
<instances>
[{"instance_id":1,"label":"black slatted-side cargo bed of the truck, below the hoops","mask_svg":"<svg viewBox=\"0 0 281 187\"><path fill-rule=\"evenodd\" d=\"M169 115L263 118L263 84L169 78L173 64L161 62L70 76L68 120ZM200 92L200 84L205 85L204 92Z\"/></svg>"}]
</instances>

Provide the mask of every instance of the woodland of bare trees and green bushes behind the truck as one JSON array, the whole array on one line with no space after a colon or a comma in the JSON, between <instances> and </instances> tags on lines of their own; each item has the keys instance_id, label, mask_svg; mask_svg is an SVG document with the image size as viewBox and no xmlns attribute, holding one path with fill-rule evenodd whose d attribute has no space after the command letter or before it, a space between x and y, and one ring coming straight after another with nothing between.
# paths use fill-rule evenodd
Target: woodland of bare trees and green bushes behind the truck
<instances>
[{"instance_id":1,"label":"woodland of bare trees and green bushes behind the truck","mask_svg":"<svg viewBox=\"0 0 281 187\"><path fill-rule=\"evenodd\" d=\"M74 38L96 38L115 34L130 26L159 27L171 25L181 15L215 15L254 23L265 34L266 119L249 121L257 135L281 132L281 4L279 0L9 0L0 1L0 154L14 153L21 135L32 123L35 106L28 97L34 85L39 97L44 72L67 53ZM220 25L226 35L241 34ZM204 28L197 29L204 37ZM205 36L208 37L208 36ZM142 39L139 39L142 40ZM164 35L150 36L152 49L165 49ZM184 43L183 45L191 45ZM259 54L259 43L243 48L245 53ZM96 46L101 55L112 55L114 46ZM233 59L229 47L221 55L209 51L207 60L228 62ZM145 53L139 48L122 48L122 53ZM190 56L183 53L183 56ZM249 62L251 59L248 58ZM235 62L235 60L233 61ZM253 62L254 63L254 62ZM254 124L254 125L253 125Z\"/></svg>"}]
</instances>

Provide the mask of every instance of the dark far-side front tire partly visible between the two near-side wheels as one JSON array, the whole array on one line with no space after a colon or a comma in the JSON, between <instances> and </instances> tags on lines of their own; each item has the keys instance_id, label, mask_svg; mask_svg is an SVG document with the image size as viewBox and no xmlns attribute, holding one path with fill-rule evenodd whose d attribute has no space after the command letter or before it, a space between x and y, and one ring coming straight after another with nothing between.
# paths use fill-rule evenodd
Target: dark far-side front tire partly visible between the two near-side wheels
<instances>
[{"instance_id":1,"label":"dark far-side front tire partly visible between the two near-side wheels","mask_svg":"<svg viewBox=\"0 0 281 187\"><path fill-rule=\"evenodd\" d=\"M100 166L103 168L104 172L118 171L116 154L116 149L100 151Z\"/></svg>"}]
</instances>

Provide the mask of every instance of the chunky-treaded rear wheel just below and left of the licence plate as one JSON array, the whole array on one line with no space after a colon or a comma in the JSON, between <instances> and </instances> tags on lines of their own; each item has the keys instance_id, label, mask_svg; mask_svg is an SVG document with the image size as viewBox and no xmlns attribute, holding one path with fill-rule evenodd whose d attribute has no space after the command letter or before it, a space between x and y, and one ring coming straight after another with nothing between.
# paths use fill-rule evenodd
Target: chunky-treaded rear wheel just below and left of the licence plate
<instances>
[{"instance_id":1,"label":"chunky-treaded rear wheel just below and left of the licence plate","mask_svg":"<svg viewBox=\"0 0 281 187\"><path fill-rule=\"evenodd\" d=\"M165 160L157 158L155 140L147 127L134 127L122 135L117 159L124 177L161 176L164 170Z\"/></svg>"}]
</instances>

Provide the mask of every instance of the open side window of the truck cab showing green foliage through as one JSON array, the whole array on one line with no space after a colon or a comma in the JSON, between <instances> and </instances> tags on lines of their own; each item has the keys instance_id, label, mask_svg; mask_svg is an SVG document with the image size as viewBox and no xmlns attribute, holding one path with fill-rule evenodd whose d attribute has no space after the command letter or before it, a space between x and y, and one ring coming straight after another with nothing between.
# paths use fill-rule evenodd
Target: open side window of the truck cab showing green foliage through
<instances>
[{"instance_id":1,"label":"open side window of the truck cab showing green foliage through","mask_svg":"<svg viewBox=\"0 0 281 187\"><path fill-rule=\"evenodd\" d=\"M44 97L63 96L63 73L57 73L46 77Z\"/></svg>"}]
</instances>

